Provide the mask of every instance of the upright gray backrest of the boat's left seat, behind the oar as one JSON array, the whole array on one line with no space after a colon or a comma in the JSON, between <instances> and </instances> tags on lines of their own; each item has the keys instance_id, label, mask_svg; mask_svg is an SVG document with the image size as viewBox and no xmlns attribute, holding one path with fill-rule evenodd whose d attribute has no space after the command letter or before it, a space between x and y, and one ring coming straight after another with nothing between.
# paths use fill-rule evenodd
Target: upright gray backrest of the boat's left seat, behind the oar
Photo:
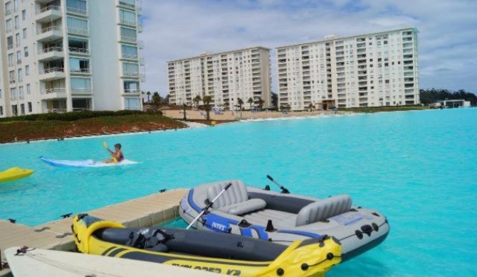
<instances>
[{"instance_id":1,"label":"upright gray backrest of the boat's left seat, behind the oar","mask_svg":"<svg viewBox=\"0 0 477 277\"><path fill-rule=\"evenodd\" d=\"M248 191L241 180L226 180L212 183L207 189L207 199L209 199L209 201L214 200L229 183L232 183L231 187L215 200L214 205L212 205L214 209L248 200Z\"/></svg>"}]
</instances>

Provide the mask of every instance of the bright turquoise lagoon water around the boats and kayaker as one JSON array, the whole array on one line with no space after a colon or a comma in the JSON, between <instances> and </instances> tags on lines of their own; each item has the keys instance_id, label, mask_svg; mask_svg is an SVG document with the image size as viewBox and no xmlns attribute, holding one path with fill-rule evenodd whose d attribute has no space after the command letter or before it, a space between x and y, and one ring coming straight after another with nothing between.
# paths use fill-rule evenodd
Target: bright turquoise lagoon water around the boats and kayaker
<instances>
[{"instance_id":1,"label":"bright turquoise lagoon water around the boats and kayaker","mask_svg":"<svg viewBox=\"0 0 477 277\"><path fill-rule=\"evenodd\" d=\"M101 160L123 144L137 165L53 168L38 156ZM149 195L162 188L241 178L353 203L387 215L383 244L327 276L477 276L477 109L258 121L0 146L1 170L36 173L0 185L0 218L34 226L61 214ZM180 222L175 224L181 225ZM184 225L182 225L184 226Z\"/></svg>"}]
</instances>

